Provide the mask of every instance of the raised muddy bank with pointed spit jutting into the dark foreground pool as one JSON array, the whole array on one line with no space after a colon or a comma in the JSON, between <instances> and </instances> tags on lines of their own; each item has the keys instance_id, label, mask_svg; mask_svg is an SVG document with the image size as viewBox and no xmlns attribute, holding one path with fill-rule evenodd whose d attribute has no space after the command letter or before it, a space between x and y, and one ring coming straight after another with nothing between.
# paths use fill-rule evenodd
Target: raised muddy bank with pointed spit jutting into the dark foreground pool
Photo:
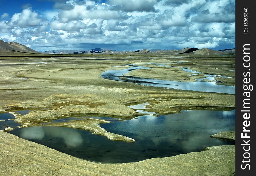
<instances>
[{"instance_id":1,"label":"raised muddy bank with pointed spit jutting into the dark foreground pool","mask_svg":"<svg viewBox=\"0 0 256 176\"><path fill-rule=\"evenodd\" d=\"M99 93L101 90L102 89L99 89ZM99 123L107 123L105 120L95 121L88 118L87 123L84 121L76 121L65 124L51 124L51 121L79 115L92 116L94 114L120 118L123 120L132 119L144 114L139 111L137 112L136 109L129 108L128 106L143 101L149 102L147 111L153 112L155 116L177 113L184 109L232 110L235 107L235 96L230 94L222 94L222 101L220 101L219 99L216 99L216 95L214 94L189 94L190 92L186 94L185 92L171 92L166 89L161 92L145 91L144 95L138 95L136 90L114 89L114 91L114 94L119 93L123 95L122 99L120 97L118 101L113 97L109 97L108 94L58 94L46 97L40 101L8 104L2 107L3 110L9 111L16 116L14 120L21 124L20 127L41 126L42 123L49 122L44 125L80 128L92 131L94 134L106 136L111 140L122 140L126 142L133 142L134 140L118 134L109 133L99 127ZM109 92L112 92L112 89L109 89ZM140 93L143 93L143 91ZM14 113L13 111L16 109L35 110L22 115Z\"/></svg>"}]
</instances>

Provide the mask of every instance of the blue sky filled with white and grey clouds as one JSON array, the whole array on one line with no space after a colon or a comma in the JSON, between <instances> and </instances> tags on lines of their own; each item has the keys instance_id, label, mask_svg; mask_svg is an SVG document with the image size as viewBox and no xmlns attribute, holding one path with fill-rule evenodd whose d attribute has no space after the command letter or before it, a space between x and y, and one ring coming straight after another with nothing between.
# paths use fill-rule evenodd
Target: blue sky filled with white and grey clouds
<instances>
[{"instance_id":1,"label":"blue sky filled with white and grey clouds","mask_svg":"<svg viewBox=\"0 0 256 176\"><path fill-rule=\"evenodd\" d=\"M235 48L235 0L0 0L0 39L37 51Z\"/></svg>"}]
</instances>

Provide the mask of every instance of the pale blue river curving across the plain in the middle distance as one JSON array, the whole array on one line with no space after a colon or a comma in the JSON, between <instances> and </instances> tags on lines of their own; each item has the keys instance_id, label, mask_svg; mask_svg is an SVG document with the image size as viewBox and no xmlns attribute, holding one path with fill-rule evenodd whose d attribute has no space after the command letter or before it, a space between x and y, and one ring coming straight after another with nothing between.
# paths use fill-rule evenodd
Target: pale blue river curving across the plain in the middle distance
<instances>
[{"instance_id":1,"label":"pale blue river curving across the plain in the middle distance","mask_svg":"<svg viewBox=\"0 0 256 176\"><path fill-rule=\"evenodd\" d=\"M197 79L197 82L180 82L180 81L169 81L169 80L163 80L163 79L149 79L149 78L139 78L134 76L123 76L124 74L127 74L132 70L150 69L150 67L133 66L133 64L124 65L124 66L130 66L130 68L123 69L123 70L107 70L101 74L101 77L104 79L110 79L110 80L116 80L116 81L133 82L133 83L142 84L145 86L164 87L169 89L180 89L180 90L199 91L199 92L216 92L216 93L235 94L235 86L219 85L219 84L215 84L214 82L202 82L202 79ZM192 73L196 72L189 69L185 69L185 71L192 72ZM215 80L214 78L216 77L216 75L210 75L210 74L206 76L208 77L206 77L205 79L210 79L210 80Z\"/></svg>"}]
</instances>

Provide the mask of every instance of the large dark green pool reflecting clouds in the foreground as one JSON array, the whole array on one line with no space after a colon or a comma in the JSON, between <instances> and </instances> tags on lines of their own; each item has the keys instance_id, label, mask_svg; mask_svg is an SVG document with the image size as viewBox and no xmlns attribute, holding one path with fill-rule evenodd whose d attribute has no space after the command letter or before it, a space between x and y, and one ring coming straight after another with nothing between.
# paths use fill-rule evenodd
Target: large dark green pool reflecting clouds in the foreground
<instances>
[{"instance_id":1,"label":"large dark green pool reflecting clouds in the foreground","mask_svg":"<svg viewBox=\"0 0 256 176\"><path fill-rule=\"evenodd\" d=\"M145 115L100 126L109 132L133 138L136 142L111 141L89 131L59 126L17 128L9 133L78 158L101 163L137 162L202 151L208 146L235 144L210 138L210 135L218 132L235 130L235 110L188 110L158 117Z\"/></svg>"}]
</instances>

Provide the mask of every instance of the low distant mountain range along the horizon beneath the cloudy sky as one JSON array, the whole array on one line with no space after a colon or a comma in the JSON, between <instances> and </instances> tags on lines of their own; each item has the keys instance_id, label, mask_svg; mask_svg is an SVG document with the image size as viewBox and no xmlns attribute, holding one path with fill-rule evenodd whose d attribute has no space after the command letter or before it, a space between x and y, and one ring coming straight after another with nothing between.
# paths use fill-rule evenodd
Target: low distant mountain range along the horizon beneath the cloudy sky
<instances>
[{"instance_id":1,"label":"low distant mountain range along the horizon beneath the cloudy sky","mask_svg":"<svg viewBox=\"0 0 256 176\"><path fill-rule=\"evenodd\" d=\"M39 53L31 48L21 45L16 42L4 42L0 40L0 54L15 54L15 53ZM211 50L209 48L183 48L181 50L137 50L137 51L116 51L116 50L104 50L102 48L94 48L91 50L50 50L41 52L44 54L148 54L148 55L234 55L235 48L224 50Z\"/></svg>"}]
</instances>

